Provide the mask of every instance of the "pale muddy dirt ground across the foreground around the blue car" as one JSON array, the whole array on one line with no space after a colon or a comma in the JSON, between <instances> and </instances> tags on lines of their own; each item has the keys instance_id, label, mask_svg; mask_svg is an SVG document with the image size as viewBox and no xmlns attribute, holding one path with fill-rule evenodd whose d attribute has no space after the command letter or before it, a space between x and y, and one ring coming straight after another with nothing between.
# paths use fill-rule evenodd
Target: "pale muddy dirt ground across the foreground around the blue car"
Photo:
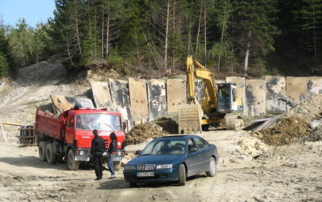
<instances>
[{"instance_id":1,"label":"pale muddy dirt ground across the foreground around the blue car","mask_svg":"<svg viewBox=\"0 0 322 202\"><path fill-rule=\"evenodd\" d=\"M130 188L120 171L116 179L104 171L104 179L94 181L88 168L70 171L66 163L40 161L37 147L1 143L0 201L321 201L321 141L267 148L255 160L238 145L248 134L215 131L202 137L218 146L216 176L139 188Z\"/></svg>"}]
</instances>

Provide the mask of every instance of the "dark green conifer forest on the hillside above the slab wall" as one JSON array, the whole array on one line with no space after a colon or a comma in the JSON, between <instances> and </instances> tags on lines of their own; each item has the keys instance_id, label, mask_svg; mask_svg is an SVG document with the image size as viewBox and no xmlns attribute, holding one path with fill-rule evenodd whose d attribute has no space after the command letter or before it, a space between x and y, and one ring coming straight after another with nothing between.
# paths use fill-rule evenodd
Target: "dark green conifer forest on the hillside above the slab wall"
<instances>
[{"instance_id":1,"label":"dark green conifer forest on the hillside above the slab wall","mask_svg":"<svg viewBox=\"0 0 322 202\"><path fill-rule=\"evenodd\" d=\"M80 68L322 74L322 0L56 0L35 28L0 22L0 77L56 55ZM319 75L318 75L319 74Z\"/></svg>"}]
</instances>

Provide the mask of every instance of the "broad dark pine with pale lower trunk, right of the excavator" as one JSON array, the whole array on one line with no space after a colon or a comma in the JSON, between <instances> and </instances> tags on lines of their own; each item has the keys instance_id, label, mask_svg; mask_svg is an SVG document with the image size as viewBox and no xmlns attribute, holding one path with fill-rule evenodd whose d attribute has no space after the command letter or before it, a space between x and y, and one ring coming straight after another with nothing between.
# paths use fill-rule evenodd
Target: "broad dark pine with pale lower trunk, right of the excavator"
<instances>
[{"instance_id":1,"label":"broad dark pine with pale lower trunk, right of the excavator","mask_svg":"<svg viewBox=\"0 0 322 202\"><path fill-rule=\"evenodd\" d=\"M274 36L278 34L275 26L276 0L235 1L234 36L235 46L244 56L243 72L247 75L249 59L256 69L265 68L262 58L274 50Z\"/></svg>"}]
</instances>

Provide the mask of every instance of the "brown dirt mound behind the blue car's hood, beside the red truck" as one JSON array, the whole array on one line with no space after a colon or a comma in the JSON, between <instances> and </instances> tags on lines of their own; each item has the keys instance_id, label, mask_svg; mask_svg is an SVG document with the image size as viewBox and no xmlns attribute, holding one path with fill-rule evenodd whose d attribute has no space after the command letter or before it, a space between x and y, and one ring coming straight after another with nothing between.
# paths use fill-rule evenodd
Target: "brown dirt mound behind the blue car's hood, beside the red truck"
<instances>
[{"instance_id":1,"label":"brown dirt mound behind the blue car's hood, beside the red truck","mask_svg":"<svg viewBox=\"0 0 322 202\"><path fill-rule=\"evenodd\" d=\"M129 145L138 144L149 138L163 137L169 134L162 131L162 128L155 123L140 123L135 125L126 136L126 142Z\"/></svg>"}]
</instances>

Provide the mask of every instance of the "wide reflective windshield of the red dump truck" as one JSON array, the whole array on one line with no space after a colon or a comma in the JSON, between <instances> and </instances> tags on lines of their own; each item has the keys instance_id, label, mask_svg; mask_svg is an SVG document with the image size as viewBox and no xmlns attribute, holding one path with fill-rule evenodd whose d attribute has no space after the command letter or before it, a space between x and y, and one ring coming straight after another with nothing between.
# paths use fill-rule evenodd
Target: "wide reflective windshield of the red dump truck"
<instances>
[{"instance_id":1,"label":"wide reflective windshield of the red dump truck","mask_svg":"<svg viewBox=\"0 0 322 202\"><path fill-rule=\"evenodd\" d=\"M113 114L78 114L76 129L121 131L121 117Z\"/></svg>"}]
</instances>

